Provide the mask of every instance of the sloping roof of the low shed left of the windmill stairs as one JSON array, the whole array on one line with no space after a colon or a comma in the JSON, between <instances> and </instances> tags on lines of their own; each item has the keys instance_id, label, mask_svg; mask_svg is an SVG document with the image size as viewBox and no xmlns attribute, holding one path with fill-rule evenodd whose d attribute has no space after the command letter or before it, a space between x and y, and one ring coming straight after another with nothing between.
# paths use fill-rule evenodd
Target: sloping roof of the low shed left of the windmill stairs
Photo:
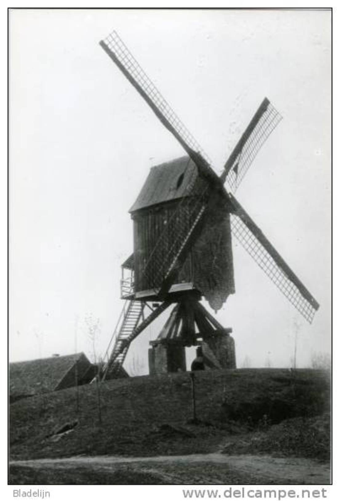
<instances>
[{"instance_id":1,"label":"sloping roof of the low shed left of the windmill stairs","mask_svg":"<svg viewBox=\"0 0 340 501\"><path fill-rule=\"evenodd\" d=\"M9 364L9 395L12 397L29 396L53 391L67 372L83 358L83 353L48 357Z\"/></svg>"}]
</instances>

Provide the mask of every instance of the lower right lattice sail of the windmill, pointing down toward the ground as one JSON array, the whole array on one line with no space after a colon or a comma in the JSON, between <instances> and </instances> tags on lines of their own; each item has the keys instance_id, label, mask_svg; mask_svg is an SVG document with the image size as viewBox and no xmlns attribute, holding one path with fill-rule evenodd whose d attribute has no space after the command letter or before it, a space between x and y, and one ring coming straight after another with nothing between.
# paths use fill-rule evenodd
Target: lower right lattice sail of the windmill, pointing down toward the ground
<instances>
[{"instance_id":1,"label":"lower right lattice sail of the windmill, pointing down toward the ground","mask_svg":"<svg viewBox=\"0 0 340 501\"><path fill-rule=\"evenodd\" d=\"M318 303L235 197L229 196L234 206L231 214L232 233L296 310L311 323L319 307Z\"/></svg>"}]
</instances>

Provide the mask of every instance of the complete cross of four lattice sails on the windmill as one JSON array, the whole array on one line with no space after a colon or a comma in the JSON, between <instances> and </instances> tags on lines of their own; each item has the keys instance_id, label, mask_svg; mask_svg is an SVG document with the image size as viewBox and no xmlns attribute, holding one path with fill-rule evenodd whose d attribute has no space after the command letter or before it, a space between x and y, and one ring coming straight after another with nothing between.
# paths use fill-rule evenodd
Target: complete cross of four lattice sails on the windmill
<instances>
[{"instance_id":1,"label":"complete cross of four lattice sails on the windmill","mask_svg":"<svg viewBox=\"0 0 340 501\"><path fill-rule=\"evenodd\" d=\"M318 309L317 302L236 199L231 194L228 195L222 187L224 181L227 180L232 191L236 190L262 144L281 120L279 113L267 98L262 101L225 163L224 172L218 178L210 167L208 156L173 112L119 36L112 32L100 42L100 46L161 123L182 145L197 166L199 174L207 181L199 196L192 197L193 200L189 203L183 198L178 204L173 217L167 221L152 252L145 260L143 274L151 277L152 280L155 277L155 291L165 296L170 289L188 250L199 235L204 213L213 194L219 193L223 195L227 209L231 212L231 229L236 238L295 308L311 322ZM190 196L190 189L188 189L187 196ZM185 217L181 217L182 212L186 213ZM165 258L163 253L159 252L163 248L168 249Z\"/></svg>"}]
</instances>

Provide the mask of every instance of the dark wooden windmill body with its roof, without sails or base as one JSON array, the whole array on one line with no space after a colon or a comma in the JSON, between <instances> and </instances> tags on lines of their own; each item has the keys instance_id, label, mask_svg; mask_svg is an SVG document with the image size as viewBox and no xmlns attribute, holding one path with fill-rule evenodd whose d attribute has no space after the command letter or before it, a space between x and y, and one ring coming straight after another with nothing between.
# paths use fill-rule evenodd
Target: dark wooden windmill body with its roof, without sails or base
<instances>
[{"instance_id":1,"label":"dark wooden windmill body with its roof, without sails or base","mask_svg":"<svg viewBox=\"0 0 340 501\"><path fill-rule=\"evenodd\" d=\"M189 231L192 225L190 206L197 203L204 182L189 157L151 168L129 210L133 220L133 266L132 259L122 266L134 270L134 299L156 298L164 279L158 273L157 262L165 260L170 252L178 224L184 224ZM161 235L164 244L160 248L157 246L156 260L152 251ZM145 274L148 262L151 266ZM230 216L222 200L217 199L213 209L204 216L199 237L190 248L168 295L184 291L197 291L214 310L221 308L227 296L234 293Z\"/></svg>"}]
</instances>

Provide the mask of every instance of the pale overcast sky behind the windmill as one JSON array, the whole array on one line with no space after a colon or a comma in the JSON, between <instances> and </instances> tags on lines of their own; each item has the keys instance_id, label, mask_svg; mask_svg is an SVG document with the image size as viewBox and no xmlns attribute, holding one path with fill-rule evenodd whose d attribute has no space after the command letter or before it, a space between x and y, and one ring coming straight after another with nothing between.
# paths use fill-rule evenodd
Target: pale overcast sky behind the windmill
<instances>
[{"instance_id":1,"label":"pale overcast sky behind the windmill","mask_svg":"<svg viewBox=\"0 0 340 501\"><path fill-rule=\"evenodd\" d=\"M236 196L320 309L309 325L233 240L236 293L217 320L238 366L290 366L295 334L298 366L329 353L330 13L26 10L10 13L10 360L72 353L75 337L90 357L88 316L103 354L127 211L149 168L183 155L99 47L112 30L217 173L264 96L280 112ZM147 371L164 316L127 369Z\"/></svg>"}]
</instances>

